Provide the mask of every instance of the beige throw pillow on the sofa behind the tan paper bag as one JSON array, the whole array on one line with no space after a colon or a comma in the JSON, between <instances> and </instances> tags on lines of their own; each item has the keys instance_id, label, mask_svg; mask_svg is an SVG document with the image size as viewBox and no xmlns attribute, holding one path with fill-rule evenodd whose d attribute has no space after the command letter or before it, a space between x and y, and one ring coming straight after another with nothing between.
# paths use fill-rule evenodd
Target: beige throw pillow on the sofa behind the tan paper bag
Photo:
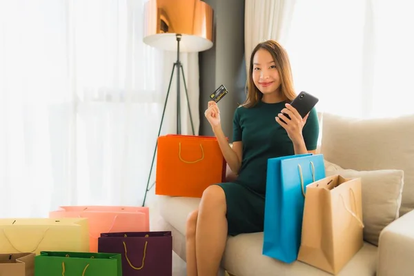
<instances>
[{"instance_id":1,"label":"beige throw pillow on the sofa behind the tan paper bag","mask_svg":"<svg viewBox=\"0 0 414 276\"><path fill-rule=\"evenodd\" d=\"M326 176L341 175L345 178L361 178L362 218L364 240L378 245L382 229L399 217L404 172L402 170L343 170L325 162Z\"/></svg>"}]
</instances>

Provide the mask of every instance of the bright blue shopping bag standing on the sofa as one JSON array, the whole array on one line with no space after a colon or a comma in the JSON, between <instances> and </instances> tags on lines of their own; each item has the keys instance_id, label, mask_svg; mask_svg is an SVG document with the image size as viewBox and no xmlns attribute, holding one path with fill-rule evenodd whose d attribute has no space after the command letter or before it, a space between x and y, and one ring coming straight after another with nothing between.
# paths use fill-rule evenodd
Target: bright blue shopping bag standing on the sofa
<instances>
[{"instance_id":1,"label":"bright blue shopping bag standing on the sofa","mask_svg":"<svg viewBox=\"0 0 414 276\"><path fill-rule=\"evenodd\" d=\"M263 255L286 263L297 259L306 185L323 178L323 155L268 159Z\"/></svg>"}]
</instances>

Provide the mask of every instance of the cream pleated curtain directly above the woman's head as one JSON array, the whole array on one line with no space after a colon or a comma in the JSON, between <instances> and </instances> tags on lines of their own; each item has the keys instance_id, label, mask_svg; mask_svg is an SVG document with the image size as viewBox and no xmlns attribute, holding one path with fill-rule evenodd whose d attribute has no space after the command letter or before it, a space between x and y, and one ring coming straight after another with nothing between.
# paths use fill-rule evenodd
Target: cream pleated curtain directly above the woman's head
<instances>
[{"instance_id":1,"label":"cream pleated curtain directly above the woman's head","mask_svg":"<svg viewBox=\"0 0 414 276\"><path fill-rule=\"evenodd\" d=\"M275 39L285 43L288 39L293 10L297 0L245 0L244 49L246 72L250 53L257 43Z\"/></svg>"}]
</instances>

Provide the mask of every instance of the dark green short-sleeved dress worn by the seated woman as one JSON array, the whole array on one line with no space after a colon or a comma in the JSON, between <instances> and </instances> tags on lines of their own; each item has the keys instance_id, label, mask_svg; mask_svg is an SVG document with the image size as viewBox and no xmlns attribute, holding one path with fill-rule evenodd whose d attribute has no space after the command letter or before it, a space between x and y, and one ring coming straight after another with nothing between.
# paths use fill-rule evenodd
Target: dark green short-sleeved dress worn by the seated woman
<instances>
[{"instance_id":1,"label":"dark green short-sleeved dress worn by the seated woman","mask_svg":"<svg viewBox=\"0 0 414 276\"><path fill-rule=\"evenodd\" d=\"M228 235L262 232L264 197L269 158L295 155L293 143L275 117L284 102L264 103L253 108L240 106L233 119L233 141L242 141L243 160L235 182L217 184L226 194ZM315 150L319 122L315 108L302 130L306 148Z\"/></svg>"}]
</instances>

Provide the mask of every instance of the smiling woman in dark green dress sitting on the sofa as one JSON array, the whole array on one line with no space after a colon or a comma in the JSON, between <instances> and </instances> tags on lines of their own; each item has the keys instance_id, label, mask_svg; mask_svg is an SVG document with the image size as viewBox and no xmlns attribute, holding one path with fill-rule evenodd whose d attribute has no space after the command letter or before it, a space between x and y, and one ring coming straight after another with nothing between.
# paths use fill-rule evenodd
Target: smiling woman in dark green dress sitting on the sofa
<instances>
[{"instance_id":1,"label":"smiling woman in dark green dress sitting on the sofa","mask_svg":"<svg viewBox=\"0 0 414 276\"><path fill-rule=\"evenodd\" d=\"M255 47L250 57L247 99L235 110L233 119L233 148L221 130L217 104L208 103L204 114L237 178L208 187L199 209L189 215L188 276L217 275L228 235L263 231L269 158L316 149L317 113L313 109L302 119L288 104L295 97L286 51L275 41L265 41Z\"/></svg>"}]
</instances>

